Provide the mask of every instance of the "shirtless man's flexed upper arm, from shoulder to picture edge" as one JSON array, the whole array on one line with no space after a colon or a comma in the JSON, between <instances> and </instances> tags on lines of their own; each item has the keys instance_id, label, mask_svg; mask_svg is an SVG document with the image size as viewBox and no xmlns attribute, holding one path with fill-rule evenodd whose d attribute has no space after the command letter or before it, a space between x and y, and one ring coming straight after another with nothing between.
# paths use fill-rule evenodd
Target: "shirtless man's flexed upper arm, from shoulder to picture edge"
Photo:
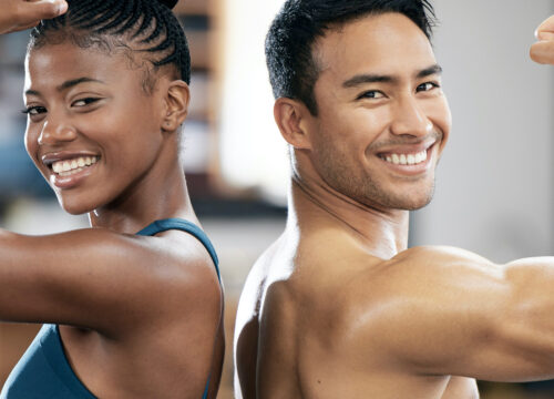
<instances>
[{"instance_id":1,"label":"shirtless man's flexed upper arm, from shoulder to picture edge","mask_svg":"<svg viewBox=\"0 0 554 399\"><path fill-rule=\"evenodd\" d=\"M534 260L531 265L537 267ZM407 250L388 265L390 291L368 334L375 339L378 332L383 354L414 374L491 380L550 377L553 368L536 357L554 354L554 321L551 328L527 315L537 311L536 295L525 288L536 279L522 268L529 266L496 266L454 248ZM543 278L551 278L553 266L544 260ZM526 308L530 304L534 310ZM530 324L542 324L542 334Z\"/></svg>"}]
</instances>

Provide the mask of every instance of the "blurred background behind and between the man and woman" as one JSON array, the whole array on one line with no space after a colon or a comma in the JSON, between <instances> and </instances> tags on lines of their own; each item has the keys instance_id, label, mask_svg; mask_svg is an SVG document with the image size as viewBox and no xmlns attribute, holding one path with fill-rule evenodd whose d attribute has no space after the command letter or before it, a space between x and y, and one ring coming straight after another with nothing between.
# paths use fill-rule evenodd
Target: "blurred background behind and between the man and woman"
<instances>
[{"instance_id":1,"label":"blurred background behind and between the man and woman","mask_svg":"<svg viewBox=\"0 0 554 399\"><path fill-rule=\"evenodd\" d=\"M193 58L185 123L192 200L220 258L233 397L234 315L257 256L286 217L286 147L273 123L264 38L283 0L186 0L176 8ZM554 253L554 69L527 57L554 0L435 0L433 44L454 127L437 194L412 214L410 243L444 244L502 263ZM23 147L28 32L0 37L0 226L48 234L88 225L64 214ZM38 326L0 324L0 386ZM482 398L554 398L550 382L480 382Z\"/></svg>"}]
</instances>

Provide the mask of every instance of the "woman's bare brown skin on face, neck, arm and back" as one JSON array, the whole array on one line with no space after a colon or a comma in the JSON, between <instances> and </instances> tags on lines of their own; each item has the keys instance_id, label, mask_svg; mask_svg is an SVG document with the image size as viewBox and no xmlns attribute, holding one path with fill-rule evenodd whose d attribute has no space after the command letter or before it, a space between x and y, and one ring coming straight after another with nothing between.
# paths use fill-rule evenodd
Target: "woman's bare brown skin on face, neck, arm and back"
<instances>
[{"instance_id":1,"label":"woman's bare brown skin on face, neck, arm and back","mask_svg":"<svg viewBox=\"0 0 554 399\"><path fill-rule=\"evenodd\" d=\"M189 91L171 69L127 55L47 44L27 60L27 150L71 214L91 228L0 233L0 319L59 324L76 376L100 398L215 398L223 293L209 254L179 231L140 237L153 221L198 224L179 160ZM52 162L95 156L62 177ZM217 337L217 338L216 338Z\"/></svg>"}]
</instances>

